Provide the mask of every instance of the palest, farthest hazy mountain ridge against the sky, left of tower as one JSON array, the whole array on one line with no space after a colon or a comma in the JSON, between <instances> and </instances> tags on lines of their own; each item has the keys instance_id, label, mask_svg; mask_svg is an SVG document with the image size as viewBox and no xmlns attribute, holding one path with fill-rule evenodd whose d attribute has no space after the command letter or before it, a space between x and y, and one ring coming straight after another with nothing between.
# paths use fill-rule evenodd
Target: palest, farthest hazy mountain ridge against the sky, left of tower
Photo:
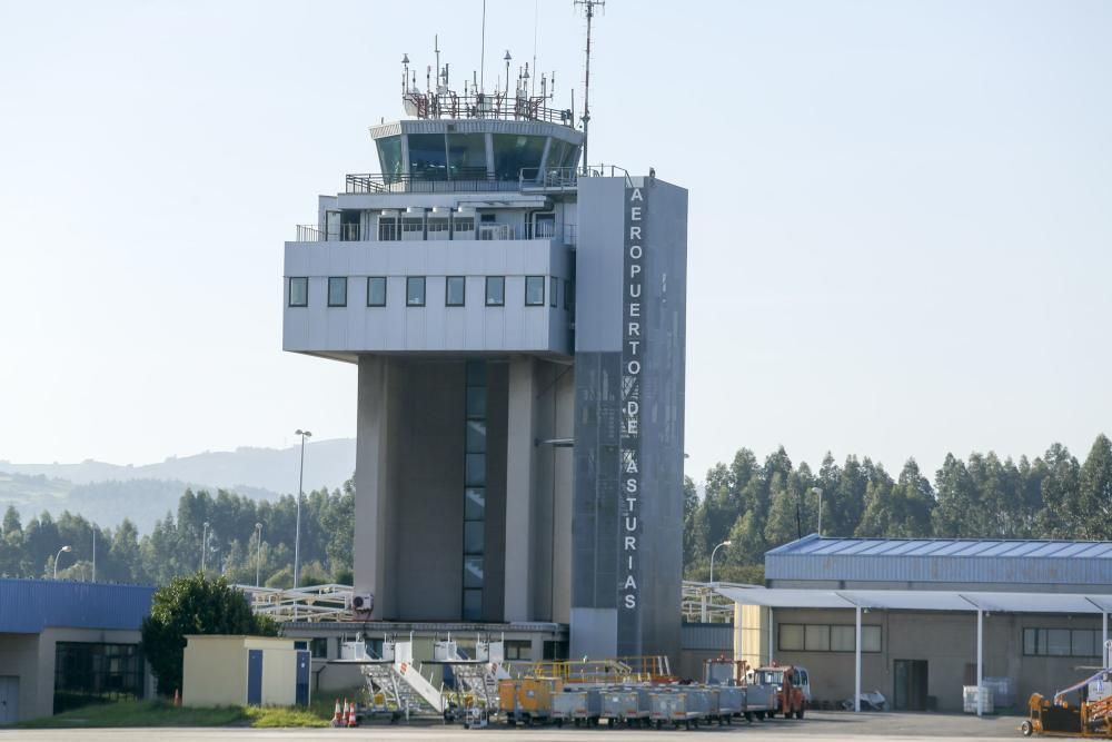
<instances>
[{"instance_id":1,"label":"palest, farthest hazy mountain ridge against the sky, left of tower","mask_svg":"<svg viewBox=\"0 0 1112 742\"><path fill-rule=\"evenodd\" d=\"M300 446L289 448L237 448L206 451L202 454L171 457L159 464L120 466L91 459L80 464L12 464L0 459L0 472L42 475L68 479L73 484L129 482L131 479L177 479L208 487L258 487L269 492L297 489ZM355 438L318 441L305 446L305 488L334 489L355 472ZM247 493L244 493L247 494ZM0 488L2 498L2 488Z\"/></svg>"}]
</instances>

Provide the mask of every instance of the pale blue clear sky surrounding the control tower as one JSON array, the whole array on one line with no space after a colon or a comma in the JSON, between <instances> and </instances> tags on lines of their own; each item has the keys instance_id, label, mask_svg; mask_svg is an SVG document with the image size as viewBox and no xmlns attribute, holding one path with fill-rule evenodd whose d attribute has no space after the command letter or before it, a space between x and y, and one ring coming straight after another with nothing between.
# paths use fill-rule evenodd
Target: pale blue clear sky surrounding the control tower
<instances>
[{"instance_id":1,"label":"pale blue clear sky surrounding the control tower","mask_svg":"<svg viewBox=\"0 0 1112 742\"><path fill-rule=\"evenodd\" d=\"M281 352L281 249L377 171L400 59L479 68L479 0L0 0L0 459L355 435ZM487 85L570 0L488 0ZM590 159L691 191L687 473L742 446L897 472L1112 434L1112 3L609 0ZM418 75L420 77L420 75ZM563 102L560 102L563 101Z\"/></svg>"}]
</instances>

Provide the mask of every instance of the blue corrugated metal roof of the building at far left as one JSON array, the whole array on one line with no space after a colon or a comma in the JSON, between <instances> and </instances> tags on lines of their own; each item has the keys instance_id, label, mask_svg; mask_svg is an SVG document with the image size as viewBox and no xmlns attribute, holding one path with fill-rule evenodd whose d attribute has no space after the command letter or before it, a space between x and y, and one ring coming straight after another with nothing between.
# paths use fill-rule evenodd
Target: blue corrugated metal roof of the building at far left
<instances>
[{"instance_id":1,"label":"blue corrugated metal roof of the building at far left","mask_svg":"<svg viewBox=\"0 0 1112 742\"><path fill-rule=\"evenodd\" d=\"M0 578L0 633L37 634L48 626L137 630L153 594L141 585Z\"/></svg>"}]
</instances>

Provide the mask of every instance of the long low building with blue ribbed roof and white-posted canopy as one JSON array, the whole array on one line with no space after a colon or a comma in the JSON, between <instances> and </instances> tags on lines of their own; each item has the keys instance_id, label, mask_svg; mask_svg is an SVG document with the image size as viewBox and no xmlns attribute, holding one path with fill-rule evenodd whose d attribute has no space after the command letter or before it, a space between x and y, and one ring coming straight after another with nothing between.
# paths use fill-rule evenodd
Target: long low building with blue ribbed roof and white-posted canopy
<instances>
[{"instance_id":1,"label":"long low building with blue ribbed roof and white-posted canopy","mask_svg":"<svg viewBox=\"0 0 1112 742\"><path fill-rule=\"evenodd\" d=\"M736 659L807 667L820 703L860 686L961 711L963 686L987 685L1022 706L1106 665L1112 543L811 535L765 554L765 586L717 592Z\"/></svg>"}]
</instances>

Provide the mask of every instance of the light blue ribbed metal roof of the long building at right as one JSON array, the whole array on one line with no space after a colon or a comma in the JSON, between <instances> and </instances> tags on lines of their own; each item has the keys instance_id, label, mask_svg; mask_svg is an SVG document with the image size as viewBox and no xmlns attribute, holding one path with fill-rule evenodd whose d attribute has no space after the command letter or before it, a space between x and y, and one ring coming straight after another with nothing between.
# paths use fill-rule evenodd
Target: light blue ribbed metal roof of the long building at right
<instances>
[{"instance_id":1,"label":"light blue ribbed metal roof of the long building at right","mask_svg":"<svg viewBox=\"0 0 1112 742\"><path fill-rule=\"evenodd\" d=\"M824 538L765 554L766 580L1056 585L1112 592L1112 542Z\"/></svg>"}]
</instances>

